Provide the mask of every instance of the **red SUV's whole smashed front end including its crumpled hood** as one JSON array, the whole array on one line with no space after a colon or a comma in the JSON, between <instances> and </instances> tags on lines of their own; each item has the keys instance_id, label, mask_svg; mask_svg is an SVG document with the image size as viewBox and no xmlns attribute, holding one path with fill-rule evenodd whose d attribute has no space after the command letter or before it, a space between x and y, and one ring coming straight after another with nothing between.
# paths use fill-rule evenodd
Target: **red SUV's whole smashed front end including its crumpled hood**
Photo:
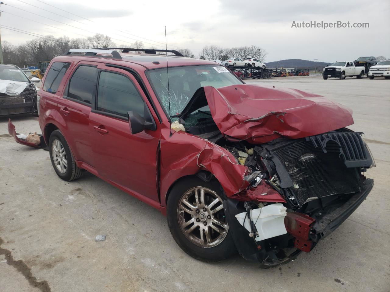
<instances>
[{"instance_id":1,"label":"red SUV's whole smashed front end including its crumpled hood","mask_svg":"<svg viewBox=\"0 0 390 292\"><path fill-rule=\"evenodd\" d=\"M214 161L203 169L226 194L225 214L239 253L262 267L310 252L373 187L363 176L374 165L363 133L345 128L353 124L351 111L319 95L249 85L204 87L174 117L187 132L234 157L230 162L240 169L241 185L238 174L226 175L228 163L219 172L211 169Z\"/></svg>"}]
</instances>

